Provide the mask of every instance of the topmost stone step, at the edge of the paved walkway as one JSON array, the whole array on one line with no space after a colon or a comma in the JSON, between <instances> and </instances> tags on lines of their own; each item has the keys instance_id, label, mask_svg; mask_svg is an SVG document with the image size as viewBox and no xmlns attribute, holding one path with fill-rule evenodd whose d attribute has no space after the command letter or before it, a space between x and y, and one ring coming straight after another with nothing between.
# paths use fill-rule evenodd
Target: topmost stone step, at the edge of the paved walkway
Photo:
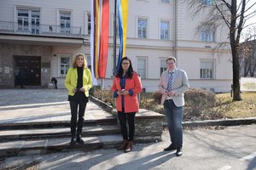
<instances>
[{"instance_id":1,"label":"topmost stone step, at the edge of the paved walkway","mask_svg":"<svg viewBox=\"0 0 256 170\"><path fill-rule=\"evenodd\" d=\"M104 119L84 120L84 126L97 125L116 125L117 118L111 116ZM15 122L15 123L1 123L0 130L8 129L32 129L32 128L49 128L49 127L70 127L70 121L51 121L51 122Z\"/></svg>"}]
</instances>

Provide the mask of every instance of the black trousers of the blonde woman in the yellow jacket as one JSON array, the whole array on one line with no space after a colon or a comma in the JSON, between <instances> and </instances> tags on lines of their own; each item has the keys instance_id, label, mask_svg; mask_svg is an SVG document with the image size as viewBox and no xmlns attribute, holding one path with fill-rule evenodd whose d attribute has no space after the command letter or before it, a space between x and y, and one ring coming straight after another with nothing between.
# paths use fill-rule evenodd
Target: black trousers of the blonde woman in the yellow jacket
<instances>
[{"instance_id":1,"label":"black trousers of the blonde woman in the yellow jacket","mask_svg":"<svg viewBox=\"0 0 256 170\"><path fill-rule=\"evenodd\" d=\"M71 110L70 129L71 129L71 135L74 138L76 135L79 136L82 133L82 129L84 126L84 111L85 111L87 102L69 101L69 104L70 104L70 110ZM79 122L78 122L78 107L79 107ZM78 129L76 130L77 127Z\"/></svg>"}]
</instances>

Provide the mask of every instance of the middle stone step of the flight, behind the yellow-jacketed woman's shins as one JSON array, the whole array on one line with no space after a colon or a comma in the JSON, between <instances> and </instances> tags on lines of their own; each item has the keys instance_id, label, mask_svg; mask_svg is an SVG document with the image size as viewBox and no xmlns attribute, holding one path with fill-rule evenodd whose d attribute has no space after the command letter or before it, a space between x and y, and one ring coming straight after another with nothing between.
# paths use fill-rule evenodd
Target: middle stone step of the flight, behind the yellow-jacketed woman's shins
<instances>
[{"instance_id":1,"label":"middle stone step of the flight, behind the yellow-jacketed woman's shins","mask_svg":"<svg viewBox=\"0 0 256 170\"><path fill-rule=\"evenodd\" d=\"M115 125L85 126L82 135L86 137L117 134L120 129ZM70 137L69 127L35 128L0 131L0 141L17 139L44 139Z\"/></svg>"}]
</instances>

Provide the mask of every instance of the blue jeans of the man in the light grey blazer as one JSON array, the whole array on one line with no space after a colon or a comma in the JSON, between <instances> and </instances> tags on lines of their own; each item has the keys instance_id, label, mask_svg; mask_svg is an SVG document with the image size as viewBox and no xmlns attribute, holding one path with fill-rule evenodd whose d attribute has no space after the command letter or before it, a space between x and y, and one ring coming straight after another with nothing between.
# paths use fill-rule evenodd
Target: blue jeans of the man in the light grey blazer
<instances>
[{"instance_id":1,"label":"blue jeans of the man in the light grey blazer","mask_svg":"<svg viewBox=\"0 0 256 170\"><path fill-rule=\"evenodd\" d=\"M183 106L177 107L172 99L164 103L166 122L169 129L172 144L177 148L183 147Z\"/></svg>"}]
</instances>

